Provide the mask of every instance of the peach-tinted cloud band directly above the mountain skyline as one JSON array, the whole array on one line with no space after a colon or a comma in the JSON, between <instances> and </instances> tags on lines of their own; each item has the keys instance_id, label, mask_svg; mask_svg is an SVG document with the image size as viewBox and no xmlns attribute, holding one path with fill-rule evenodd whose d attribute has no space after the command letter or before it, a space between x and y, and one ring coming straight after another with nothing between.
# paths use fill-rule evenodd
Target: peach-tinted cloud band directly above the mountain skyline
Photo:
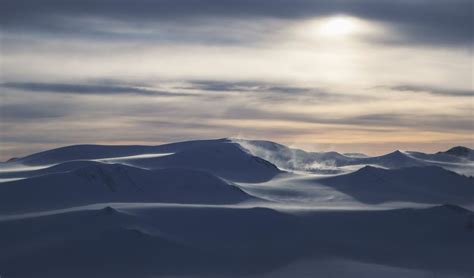
<instances>
[{"instance_id":1,"label":"peach-tinted cloud band directly above the mountain skyline","mask_svg":"<svg viewBox=\"0 0 474 278\"><path fill-rule=\"evenodd\" d=\"M110 101L110 98L83 95L63 98L27 92L8 94L7 101L19 103L0 103L0 119L3 119L0 121L0 140L14 148L5 151L3 157L30 152L32 145L25 142L36 143L32 150L37 151L65 144L158 144L244 134L290 143L304 140L349 142L355 138L361 144L367 140L376 141L380 136L392 140L390 136L401 138L400 133L415 138L429 132L441 134L437 140L458 136L453 138L460 138L456 142L461 142L474 130L469 111L457 114L433 110L417 114L407 109L388 113L383 107L377 110L364 106L350 113L344 109L327 113L324 107L333 104L310 104L313 110L305 110L292 101L276 104L268 104L263 99L248 101L248 94L259 93L211 92L215 93L224 96L218 101L209 101L207 93L186 98L186 101L181 98L150 101L124 94L116 95ZM361 105L367 104L362 101ZM415 139L429 140L423 135ZM453 140L451 144L454 144ZM351 148L347 147L347 150Z\"/></svg>"}]
</instances>

